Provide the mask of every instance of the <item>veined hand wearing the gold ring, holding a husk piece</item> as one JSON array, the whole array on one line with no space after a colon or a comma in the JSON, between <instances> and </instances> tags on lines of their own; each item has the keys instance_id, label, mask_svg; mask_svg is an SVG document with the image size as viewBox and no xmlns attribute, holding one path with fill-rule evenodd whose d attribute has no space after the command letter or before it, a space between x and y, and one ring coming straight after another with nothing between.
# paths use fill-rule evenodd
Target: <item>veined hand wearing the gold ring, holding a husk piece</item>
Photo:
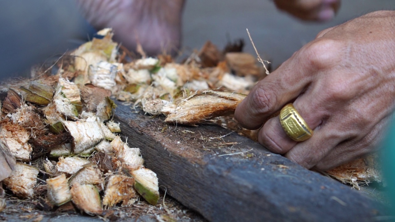
<instances>
[{"instance_id":1,"label":"veined hand wearing the gold ring, holding a husk piece","mask_svg":"<svg viewBox=\"0 0 395 222\"><path fill-rule=\"evenodd\" d=\"M314 129L296 142L278 117L258 141L306 168L330 169L371 152L391 117L395 98L395 11L376 11L320 32L262 79L235 111L257 129L287 103Z\"/></svg>"}]
</instances>

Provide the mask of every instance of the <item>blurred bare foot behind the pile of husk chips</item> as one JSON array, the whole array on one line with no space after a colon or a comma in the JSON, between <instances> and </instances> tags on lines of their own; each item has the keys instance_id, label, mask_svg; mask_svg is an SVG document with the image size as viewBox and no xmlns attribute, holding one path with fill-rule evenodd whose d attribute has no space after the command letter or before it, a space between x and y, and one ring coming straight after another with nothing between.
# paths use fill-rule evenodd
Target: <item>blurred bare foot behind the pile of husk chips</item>
<instances>
[{"instance_id":1,"label":"blurred bare foot behind the pile of husk chips","mask_svg":"<svg viewBox=\"0 0 395 222\"><path fill-rule=\"evenodd\" d=\"M85 19L97 30L113 28L114 40L145 53L175 54L181 42L184 0L77 0Z\"/></svg>"}]
</instances>

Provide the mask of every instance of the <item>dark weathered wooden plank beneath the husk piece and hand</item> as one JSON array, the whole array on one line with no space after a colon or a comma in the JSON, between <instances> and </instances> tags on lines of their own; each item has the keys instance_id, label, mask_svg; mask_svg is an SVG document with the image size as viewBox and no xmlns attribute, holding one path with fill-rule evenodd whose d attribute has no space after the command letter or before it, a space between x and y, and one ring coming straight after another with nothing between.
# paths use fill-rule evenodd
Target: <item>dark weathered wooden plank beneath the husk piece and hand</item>
<instances>
[{"instance_id":1,"label":"dark weathered wooden plank beneath the husk piece and hand","mask_svg":"<svg viewBox=\"0 0 395 222\"><path fill-rule=\"evenodd\" d=\"M229 130L170 126L117 104L122 134L141 149L167 194L210 221L349 222L385 214L350 187Z\"/></svg>"}]
</instances>

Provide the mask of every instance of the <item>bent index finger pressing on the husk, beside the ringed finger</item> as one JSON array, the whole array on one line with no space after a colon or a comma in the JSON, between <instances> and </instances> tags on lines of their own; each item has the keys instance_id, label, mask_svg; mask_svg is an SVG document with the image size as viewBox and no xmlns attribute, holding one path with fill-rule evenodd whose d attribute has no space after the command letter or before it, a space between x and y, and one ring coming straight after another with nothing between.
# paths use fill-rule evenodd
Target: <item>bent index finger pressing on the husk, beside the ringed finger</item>
<instances>
[{"instance_id":1,"label":"bent index finger pressing on the husk, beside the ringed finger","mask_svg":"<svg viewBox=\"0 0 395 222\"><path fill-rule=\"evenodd\" d=\"M298 53L259 81L239 104L234 117L241 126L258 129L273 113L305 90L311 81L306 73L312 70L299 61Z\"/></svg>"}]
</instances>

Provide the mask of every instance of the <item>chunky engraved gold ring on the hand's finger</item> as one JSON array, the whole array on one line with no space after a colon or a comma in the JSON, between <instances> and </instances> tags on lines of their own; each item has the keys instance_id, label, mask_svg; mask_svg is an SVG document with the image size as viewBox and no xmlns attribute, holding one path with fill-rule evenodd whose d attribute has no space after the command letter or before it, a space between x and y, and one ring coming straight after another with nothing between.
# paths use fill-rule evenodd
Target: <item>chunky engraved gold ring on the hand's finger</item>
<instances>
[{"instance_id":1,"label":"chunky engraved gold ring on the hand's finger","mask_svg":"<svg viewBox=\"0 0 395 222\"><path fill-rule=\"evenodd\" d=\"M282 107L280 122L286 134L295 141L305 141L313 135L313 131L293 107L292 103Z\"/></svg>"}]
</instances>

